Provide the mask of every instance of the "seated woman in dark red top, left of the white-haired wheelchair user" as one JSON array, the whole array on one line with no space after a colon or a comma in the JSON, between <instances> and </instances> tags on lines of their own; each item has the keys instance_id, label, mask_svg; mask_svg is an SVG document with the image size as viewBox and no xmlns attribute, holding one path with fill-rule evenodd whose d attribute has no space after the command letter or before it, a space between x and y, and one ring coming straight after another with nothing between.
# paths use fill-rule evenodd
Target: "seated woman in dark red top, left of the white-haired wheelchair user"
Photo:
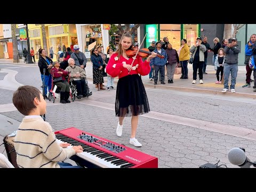
<instances>
[{"instance_id":1,"label":"seated woman in dark red top, left of the white-haired wheelchair user","mask_svg":"<svg viewBox=\"0 0 256 192\"><path fill-rule=\"evenodd\" d=\"M68 71L60 68L60 63L55 61L52 63L53 68L51 69L51 75L53 77L53 83L60 87L60 102L70 103L69 98L69 83L66 80Z\"/></svg>"}]
</instances>

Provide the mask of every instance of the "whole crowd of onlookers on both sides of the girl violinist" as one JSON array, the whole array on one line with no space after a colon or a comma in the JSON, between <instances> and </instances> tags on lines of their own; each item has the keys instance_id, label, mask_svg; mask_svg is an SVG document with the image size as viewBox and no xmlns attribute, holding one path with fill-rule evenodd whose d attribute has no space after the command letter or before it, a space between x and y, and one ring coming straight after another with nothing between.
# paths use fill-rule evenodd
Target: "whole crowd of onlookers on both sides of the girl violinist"
<instances>
[{"instance_id":1,"label":"whole crowd of onlookers on both sides of the girl violinist","mask_svg":"<svg viewBox=\"0 0 256 192\"><path fill-rule=\"evenodd\" d=\"M245 65L246 65L246 83L243 87L250 87L251 82L256 78L255 70L250 68L249 62L254 52L256 54L255 44L256 35L253 34L250 37L250 41L245 45ZM236 77L238 71L238 53L241 51L241 47L237 45L236 38L223 39L220 43L218 37L213 39L213 47L208 43L206 36L203 38L197 37L195 45L191 47L187 44L187 39L181 39L181 46L179 50L172 48L172 44L169 42L167 37L163 38L163 41L153 41L148 47L150 52L156 52L161 55L161 57L155 57L150 60L150 81L154 80L154 84L157 84L158 73L159 81L161 84L165 84L164 76L165 70L167 74L167 82L174 83L174 73L175 70L181 68L180 79L188 79L188 63L193 65L193 81L192 84L197 83L197 75L199 77L199 83L203 84L203 76L207 75L207 57L209 52L213 52L212 63L214 63L214 69L216 70L216 84L223 84L222 92L225 93L230 89L230 92L235 93ZM138 45L137 45L138 46ZM65 49L64 49L65 48ZM30 54L33 53L33 47L31 48ZM89 87L81 79L86 79L85 67L87 59L83 52L79 51L79 46L74 45L72 49L70 47L62 47L65 52L61 51L59 47L58 61L52 61L52 47L50 49L50 57L46 56L46 51L44 49L39 50L39 60L38 66L41 72L42 81L44 81L44 97L47 98L47 90L50 92L52 89L52 81L54 78L59 78L62 76L62 80L56 82L58 87L61 89L60 102L67 103L68 93L69 93L69 83L66 83L67 77L70 78L71 82L76 85L77 97L82 98L90 94L87 92ZM106 73L106 66L111 54L114 50L107 49L107 54L103 52L102 46L94 46L92 49L91 62L93 71L93 84L95 88L100 90L106 90L103 85L103 77L107 77L107 90L114 88L114 77L111 77ZM26 50L27 51L27 50ZM28 54L25 51L26 54ZM43 73L43 69L45 73ZM63 71L62 71L63 70ZM66 73L68 71L68 73ZM253 71L254 79L251 79L251 74ZM228 79L231 74L231 84L228 85ZM56 79L55 79L56 80ZM256 92L256 83L254 81L253 91Z\"/></svg>"}]
</instances>

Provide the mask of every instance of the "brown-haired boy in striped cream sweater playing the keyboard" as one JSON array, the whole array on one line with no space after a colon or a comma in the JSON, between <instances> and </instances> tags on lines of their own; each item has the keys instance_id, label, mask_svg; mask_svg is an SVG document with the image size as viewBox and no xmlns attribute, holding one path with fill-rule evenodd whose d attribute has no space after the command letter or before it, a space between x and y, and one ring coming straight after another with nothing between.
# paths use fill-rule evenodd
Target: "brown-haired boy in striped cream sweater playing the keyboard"
<instances>
[{"instance_id":1,"label":"brown-haired boy in striped cream sweater playing the keyboard","mask_svg":"<svg viewBox=\"0 0 256 192\"><path fill-rule=\"evenodd\" d=\"M23 85L13 93L13 105L25 115L14 139L17 164L20 168L81 168L62 163L76 153L81 146L58 143L51 125L40 115L46 113L46 102L34 86Z\"/></svg>"}]
</instances>

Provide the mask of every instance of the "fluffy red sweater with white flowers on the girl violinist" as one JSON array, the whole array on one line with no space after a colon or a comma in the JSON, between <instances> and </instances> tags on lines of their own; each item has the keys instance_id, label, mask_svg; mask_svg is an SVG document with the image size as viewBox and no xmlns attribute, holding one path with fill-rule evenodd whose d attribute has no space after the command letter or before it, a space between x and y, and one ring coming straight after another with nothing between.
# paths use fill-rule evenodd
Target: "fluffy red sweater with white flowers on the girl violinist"
<instances>
[{"instance_id":1,"label":"fluffy red sweater with white flowers on the girl violinist","mask_svg":"<svg viewBox=\"0 0 256 192\"><path fill-rule=\"evenodd\" d=\"M119 78L122 78L126 75L133 75L133 74L140 74L142 76L148 75L150 72L150 65L147 60L144 62L142 61L141 57L137 55L137 58L133 62L133 69L128 71L128 69L123 67L123 63L125 62L127 65L131 65L133 58L129 58L128 60L125 59L122 55L121 58L118 58L117 53L113 53L108 61L108 65L106 68L107 73L111 77L118 76ZM129 74L128 74L129 73Z\"/></svg>"}]
</instances>

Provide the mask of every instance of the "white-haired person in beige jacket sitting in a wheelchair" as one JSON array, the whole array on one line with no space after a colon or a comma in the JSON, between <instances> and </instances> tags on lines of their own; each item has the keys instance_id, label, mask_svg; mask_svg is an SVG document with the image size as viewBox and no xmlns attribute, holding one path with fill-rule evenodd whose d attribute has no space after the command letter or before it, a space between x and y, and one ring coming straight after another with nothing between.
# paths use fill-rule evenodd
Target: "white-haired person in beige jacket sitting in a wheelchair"
<instances>
[{"instance_id":1,"label":"white-haired person in beige jacket sitting in a wheelchair","mask_svg":"<svg viewBox=\"0 0 256 192\"><path fill-rule=\"evenodd\" d=\"M75 60L73 58L68 59L69 66L65 69L69 72L70 82L76 85L77 98L89 97L92 92L89 90L89 86L86 84L86 74L79 66L75 66Z\"/></svg>"}]
</instances>

